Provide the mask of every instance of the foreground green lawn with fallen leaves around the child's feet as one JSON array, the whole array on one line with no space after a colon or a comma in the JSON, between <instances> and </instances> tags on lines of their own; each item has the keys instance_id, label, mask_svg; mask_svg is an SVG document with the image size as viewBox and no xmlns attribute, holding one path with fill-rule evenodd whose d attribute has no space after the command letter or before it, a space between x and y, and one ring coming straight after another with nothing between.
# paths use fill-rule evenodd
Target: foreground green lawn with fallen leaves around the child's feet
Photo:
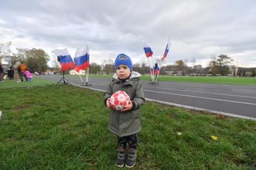
<instances>
[{"instance_id":1,"label":"foreground green lawn with fallen leaves around the child's feet","mask_svg":"<svg viewBox=\"0 0 256 170\"><path fill-rule=\"evenodd\" d=\"M0 169L120 169L102 92L59 85L0 94ZM135 169L256 168L256 121L154 102L140 118Z\"/></svg>"}]
</instances>

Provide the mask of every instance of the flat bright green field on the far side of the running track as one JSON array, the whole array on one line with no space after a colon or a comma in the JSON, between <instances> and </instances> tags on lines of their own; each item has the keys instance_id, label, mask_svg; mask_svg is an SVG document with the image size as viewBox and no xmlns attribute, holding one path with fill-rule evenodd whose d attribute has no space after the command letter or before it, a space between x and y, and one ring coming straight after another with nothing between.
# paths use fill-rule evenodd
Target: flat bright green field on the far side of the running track
<instances>
[{"instance_id":1,"label":"flat bright green field on the far side of the running track","mask_svg":"<svg viewBox=\"0 0 256 170\"><path fill-rule=\"evenodd\" d=\"M71 76L71 75L69 75ZM90 77L112 77L112 75L90 75ZM151 80L151 76L141 76L142 80ZM225 76L158 76L158 80L177 82L205 82L205 83L239 83L256 85L256 77L225 77Z\"/></svg>"}]
</instances>

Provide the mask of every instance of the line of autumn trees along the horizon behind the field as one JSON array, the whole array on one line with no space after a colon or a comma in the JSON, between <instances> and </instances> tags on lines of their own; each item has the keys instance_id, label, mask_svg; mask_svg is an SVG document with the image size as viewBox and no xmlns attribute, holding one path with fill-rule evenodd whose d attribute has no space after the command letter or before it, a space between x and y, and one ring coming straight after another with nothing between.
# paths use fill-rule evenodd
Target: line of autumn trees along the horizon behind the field
<instances>
[{"instance_id":1,"label":"line of autumn trees along the horizon behind the field","mask_svg":"<svg viewBox=\"0 0 256 170\"><path fill-rule=\"evenodd\" d=\"M17 53L10 53L8 55L4 50L2 50L0 46L0 59L8 58L11 64L15 64L16 62L24 62L28 68L31 69L32 72L40 71L46 72L49 69L47 63L50 60L49 55L43 49L24 49L24 48L17 48ZM161 67L160 74L166 74L166 71L175 70L177 73L182 73L183 75L186 74L193 74L193 73L200 73L200 74L213 74L213 75L227 75L230 73L230 68L228 64L233 61L227 55L219 55L213 58L206 68L195 68L196 59L193 58L190 61L192 63L192 67L189 67L188 61L185 60L177 60L173 65L166 65ZM160 59L157 59L156 62L162 64ZM140 63L133 64L133 70L137 71L141 74L149 74L149 67L147 66L145 60ZM56 59L52 59L52 71L60 70L60 65L56 61ZM96 62L90 63L89 67L90 73L96 74L99 71L105 71L107 74L114 73L114 60L113 59L103 59L102 64L97 64Z\"/></svg>"}]
</instances>

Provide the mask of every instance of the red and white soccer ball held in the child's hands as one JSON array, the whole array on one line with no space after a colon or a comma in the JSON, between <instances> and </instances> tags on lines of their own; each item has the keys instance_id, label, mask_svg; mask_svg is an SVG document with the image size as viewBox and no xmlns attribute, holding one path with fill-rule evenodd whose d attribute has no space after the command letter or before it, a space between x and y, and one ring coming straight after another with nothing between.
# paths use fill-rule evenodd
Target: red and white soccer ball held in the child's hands
<instances>
[{"instance_id":1,"label":"red and white soccer ball held in the child's hands","mask_svg":"<svg viewBox=\"0 0 256 170\"><path fill-rule=\"evenodd\" d=\"M117 91L110 97L110 106L112 109L120 111L124 106L128 105L130 96L124 91Z\"/></svg>"}]
</instances>

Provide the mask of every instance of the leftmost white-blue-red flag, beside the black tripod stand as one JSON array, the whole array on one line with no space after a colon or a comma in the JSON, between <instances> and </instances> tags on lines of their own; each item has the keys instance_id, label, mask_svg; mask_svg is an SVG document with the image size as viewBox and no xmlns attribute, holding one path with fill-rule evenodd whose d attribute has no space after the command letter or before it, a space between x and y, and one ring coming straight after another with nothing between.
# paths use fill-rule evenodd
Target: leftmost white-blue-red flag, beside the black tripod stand
<instances>
[{"instance_id":1,"label":"leftmost white-blue-red flag, beside the black tripod stand","mask_svg":"<svg viewBox=\"0 0 256 170\"><path fill-rule=\"evenodd\" d=\"M66 71L70 68L75 67L73 60L67 51L67 49L55 49L52 50L52 53L57 55L58 59L60 60L60 66L62 71Z\"/></svg>"}]
</instances>

